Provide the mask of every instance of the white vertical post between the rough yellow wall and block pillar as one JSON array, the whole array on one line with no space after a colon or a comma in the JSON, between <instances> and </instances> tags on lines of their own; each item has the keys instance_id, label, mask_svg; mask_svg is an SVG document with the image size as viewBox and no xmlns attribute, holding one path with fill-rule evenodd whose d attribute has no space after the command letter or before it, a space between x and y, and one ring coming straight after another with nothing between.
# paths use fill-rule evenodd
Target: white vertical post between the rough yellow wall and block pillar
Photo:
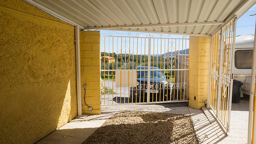
<instances>
[{"instance_id":1,"label":"white vertical post between the rough yellow wall and block pillar","mask_svg":"<svg viewBox=\"0 0 256 144\"><path fill-rule=\"evenodd\" d=\"M81 68L80 68L80 36L79 26L75 26L76 41L76 82L77 82L77 115L82 116L82 98L81 98Z\"/></svg>"}]
</instances>

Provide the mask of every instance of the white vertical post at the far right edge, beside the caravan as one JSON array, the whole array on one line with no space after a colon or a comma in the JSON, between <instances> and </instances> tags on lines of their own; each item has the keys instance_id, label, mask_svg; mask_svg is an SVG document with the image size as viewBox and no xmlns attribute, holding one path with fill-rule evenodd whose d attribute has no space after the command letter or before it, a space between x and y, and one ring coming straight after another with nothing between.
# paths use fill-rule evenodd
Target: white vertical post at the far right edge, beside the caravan
<instances>
[{"instance_id":1,"label":"white vertical post at the far right edge, beside the caravan","mask_svg":"<svg viewBox=\"0 0 256 144\"><path fill-rule=\"evenodd\" d=\"M256 22L255 22L256 23ZM256 28L255 28L256 35ZM248 123L248 144L251 144L252 141L252 117L253 117L253 107L254 107L254 98L255 98L255 73L256 73L256 37L254 35L254 49L253 49L253 60L252 60L252 69L251 69L251 91L250 91L250 103L249 103L249 123ZM255 117L254 117L255 119ZM255 124L254 124L255 125ZM254 129L254 133L256 129ZM256 139L256 135L254 135Z\"/></svg>"}]
</instances>

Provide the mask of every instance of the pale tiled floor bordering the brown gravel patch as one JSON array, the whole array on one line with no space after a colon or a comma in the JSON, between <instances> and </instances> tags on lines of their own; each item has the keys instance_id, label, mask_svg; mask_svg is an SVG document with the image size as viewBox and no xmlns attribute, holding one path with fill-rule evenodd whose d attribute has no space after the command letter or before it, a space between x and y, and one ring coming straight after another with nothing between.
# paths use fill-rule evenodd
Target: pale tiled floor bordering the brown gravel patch
<instances>
[{"instance_id":1,"label":"pale tiled floor bordering the brown gravel patch","mask_svg":"<svg viewBox=\"0 0 256 144\"><path fill-rule=\"evenodd\" d=\"M194 122L195 132L200 143L243 144L247 142L247 133L245 131L248 125L248 110L246 105L246 100L241 100L240 104L232 104L231 132L228 133L228 136L220 129L213 117L206 116L209 115L207 111L204 114L202 110L196 110L187 106L170 107L168 104L119 105L102 106L102 114L100 115L89 115L84 118L73 119L37 143L82 143L119 110L136 110L189 114Z\"/></svg>"}]
</instances>

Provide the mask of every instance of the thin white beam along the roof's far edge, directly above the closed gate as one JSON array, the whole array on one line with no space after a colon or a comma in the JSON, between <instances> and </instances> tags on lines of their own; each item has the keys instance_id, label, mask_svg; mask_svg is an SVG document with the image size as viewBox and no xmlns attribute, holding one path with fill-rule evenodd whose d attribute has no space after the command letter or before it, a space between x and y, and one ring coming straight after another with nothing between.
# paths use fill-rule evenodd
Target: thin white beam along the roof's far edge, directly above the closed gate
<instances>
[{"instance_id":1,"label":"thin white beam along the roof's far edge, directly above the closed gate","mask_svg":"<svg viewBox=\"0 0 256 144\"><path fill-rule=\"evenodd\" d=\"M144 31L144 30L130 30L130 29L105 29L112 31L128 31L128 32L142 32L142 33L157 33L157 34L177 34L177 35L190 35L190 36L201 36L210 37L210 34L194 34L194 33L175 33L175 32L159 32L159 31Z\"/></svg>"}]
</instances>

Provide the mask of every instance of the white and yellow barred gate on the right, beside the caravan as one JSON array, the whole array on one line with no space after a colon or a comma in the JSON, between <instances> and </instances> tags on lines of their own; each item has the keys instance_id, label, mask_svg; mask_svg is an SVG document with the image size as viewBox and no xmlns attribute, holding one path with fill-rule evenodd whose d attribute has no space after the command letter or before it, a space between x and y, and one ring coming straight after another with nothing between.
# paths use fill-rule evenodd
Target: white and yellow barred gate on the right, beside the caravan
<instances>
[{"instance_id":1,"label":"white and yellow barred gate on the right, beside the caravan","mask_svg":"<svg viewBox=\"0 0 256 144\"><path fill-rule=\"evenodd\" d=\"M230 129L236 16L211 37L208 106L224 130Z\"/></svg>"}]
</instances>

